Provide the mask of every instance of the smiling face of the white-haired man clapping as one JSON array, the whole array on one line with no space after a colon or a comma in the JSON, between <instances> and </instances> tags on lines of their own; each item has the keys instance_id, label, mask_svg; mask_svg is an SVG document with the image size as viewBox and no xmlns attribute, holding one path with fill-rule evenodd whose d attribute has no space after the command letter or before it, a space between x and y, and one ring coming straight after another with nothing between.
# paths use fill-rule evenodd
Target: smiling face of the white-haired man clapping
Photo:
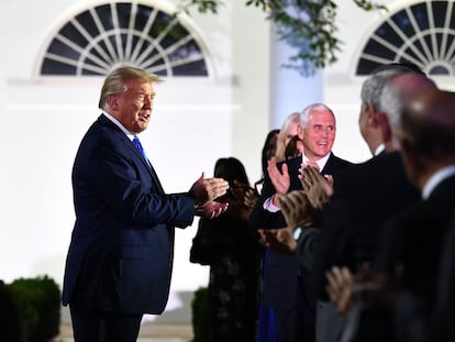
<instances>
[{"instance_id":1,"label":"smiling face of the white-haired man clapping","mask_svg":"<svg viewBox=\"0 0 455 342\"><path fill-rule=\"evenodd\" d=\"M304 155L310 161L326 156L335 141L335 118L325 109L313 109L303 129Z\"/></svg>"}]
</instances>

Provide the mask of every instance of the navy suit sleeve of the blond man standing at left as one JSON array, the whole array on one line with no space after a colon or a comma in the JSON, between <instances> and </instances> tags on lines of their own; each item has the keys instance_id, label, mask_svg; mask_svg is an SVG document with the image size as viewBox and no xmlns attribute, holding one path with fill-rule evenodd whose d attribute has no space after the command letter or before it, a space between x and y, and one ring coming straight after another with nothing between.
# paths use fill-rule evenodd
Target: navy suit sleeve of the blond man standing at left
<instances>
[{"instance_id":1,"label":"navy suit sleeve of the blond man standing at left","mask_svg":"<svg viewBox=\"0 0 455 342\"><path fill-rule=\"evenodd\" d=\"M164 194L153 169L132 154L123 141L106 133L85 156L81 167L74 170L76 188L81 189L76 208L98 208L99 203L90 201L99 196L109 211L125 223L146 227L192 223L193 199L187 194ZM91 196L93 189L98 196Z\"/></svg>"}]
</instances>

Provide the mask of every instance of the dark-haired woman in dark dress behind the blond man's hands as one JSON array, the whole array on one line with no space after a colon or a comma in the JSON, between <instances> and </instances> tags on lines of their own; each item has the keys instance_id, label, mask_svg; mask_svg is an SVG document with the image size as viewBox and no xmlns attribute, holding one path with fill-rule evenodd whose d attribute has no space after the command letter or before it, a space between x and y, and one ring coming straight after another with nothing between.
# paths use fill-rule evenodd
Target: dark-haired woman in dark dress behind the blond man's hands
<instances>
[{"instance_id":1,"label":"dark-haired woman in dark dress behind the blond man's hands","mask_svg":"<svg viewBox=\"0 0 455 342\"><path fill-rule=\"evenodd\" d=\"M211 220L201 219L191 247L191 261L210 265L209 341L254 341L256 328L257 244L248 231L251 209L244 205L249 186L243 164L234 158L220 158L214 177L229 181L230 190L220 201L228 210Z\"/></svg>"}]
</instances>

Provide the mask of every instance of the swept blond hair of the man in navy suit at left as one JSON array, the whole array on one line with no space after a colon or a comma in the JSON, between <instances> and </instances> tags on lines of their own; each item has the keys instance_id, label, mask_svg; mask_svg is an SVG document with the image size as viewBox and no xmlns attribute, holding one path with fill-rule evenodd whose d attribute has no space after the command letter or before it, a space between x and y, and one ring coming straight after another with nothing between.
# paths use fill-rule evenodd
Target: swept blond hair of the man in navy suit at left
<instances>
[{"instance_id":1,"label":"swept blond hair of the man in navy suit at left","mask_svg":"<svg viewBox=\"0 0 455 342\"><path fill-rule=\"evenodd\" d=\"M159 76L132 66L122 66L113 69L104 79L101 88L99 109L106 109L108 97L113 93L122 93L127 87L130 80L143 80L145 82L159 82Z\"/></svg>"}]
</instances>

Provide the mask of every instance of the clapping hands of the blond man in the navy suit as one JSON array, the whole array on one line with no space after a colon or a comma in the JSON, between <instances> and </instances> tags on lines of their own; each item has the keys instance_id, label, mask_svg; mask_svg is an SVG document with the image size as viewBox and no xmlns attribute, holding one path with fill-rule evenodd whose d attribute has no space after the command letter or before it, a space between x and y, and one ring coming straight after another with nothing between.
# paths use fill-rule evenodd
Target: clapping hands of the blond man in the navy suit
<instances>
[{"instance_id":1,"label":"clapping hands of the blond man in the navy suit","mask_svg":"<svg viewBox=\"0 0 455 342\"><path fill-rule=\"evenodd\" d=\"M189 195L195 199L195 213L213 219L226 211L228 202L214 200L226 194L228 189L229 183L223 178L206 178L206 174L202 173L189 190Z\"/></svg>"}]
</instances>

